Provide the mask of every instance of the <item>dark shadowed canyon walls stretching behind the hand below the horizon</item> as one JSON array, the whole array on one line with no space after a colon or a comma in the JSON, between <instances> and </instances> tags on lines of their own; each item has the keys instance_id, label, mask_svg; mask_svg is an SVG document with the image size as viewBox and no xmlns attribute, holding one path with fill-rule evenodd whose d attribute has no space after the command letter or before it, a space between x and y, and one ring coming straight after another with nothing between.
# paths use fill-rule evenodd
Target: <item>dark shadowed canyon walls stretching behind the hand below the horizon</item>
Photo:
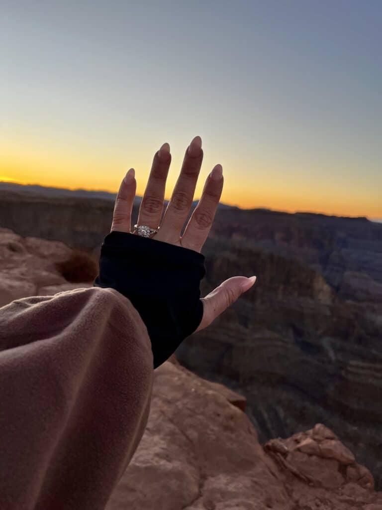
<instances>
[{"instance_id":1,"label":"dark shadowed canyon walls stretching behind the hand below the horizon","mask_svg":"<svg viewBox=\"0 0 382 510\"><path fill-rule=\"evenodd\" d=\"M61 241L94 260L110 230L112 199L5 190L0 199L0 225L13 235ZM133 222L138 208L136 200ZM382 488L382 225L363 217L222 207L202 253L202 295L236 274L258 279L182 343L180 363L240 393L261 444L323 423ZM9 299L18 269L4 264L0 281ZM24 280L18 276L17 285L26 285L20 294L77 285L35 269L32 286L28 267Z\"/></svg>"}]
</instances>

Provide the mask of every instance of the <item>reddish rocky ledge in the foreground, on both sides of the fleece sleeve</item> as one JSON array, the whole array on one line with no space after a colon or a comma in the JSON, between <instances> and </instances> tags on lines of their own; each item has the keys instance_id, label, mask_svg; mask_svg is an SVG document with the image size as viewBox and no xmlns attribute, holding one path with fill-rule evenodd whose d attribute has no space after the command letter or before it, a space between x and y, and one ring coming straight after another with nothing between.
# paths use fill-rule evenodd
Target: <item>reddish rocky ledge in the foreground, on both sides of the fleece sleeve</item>
<instances>
[{"instance_id":1,"label":"reddish rocky ledge in the foreground, on both sides of the fleece sleeve","mask_svg":"<svg viewBox=\"0 0 382 510\"><path fill-rule=\"evenodd\" d=\"M90 286L79 277L89 280L94 271L61 242L4 228L0 263L1 305ZM68 274L77 282L68 282ZM315 288L326 302L321 287ZM246 407L244 396L176 360L159 367L144 437L107 510L382 510L370 471L341 443L340 423L335 433L323 421L262 446Z\"/></svg>"}]
</instances>

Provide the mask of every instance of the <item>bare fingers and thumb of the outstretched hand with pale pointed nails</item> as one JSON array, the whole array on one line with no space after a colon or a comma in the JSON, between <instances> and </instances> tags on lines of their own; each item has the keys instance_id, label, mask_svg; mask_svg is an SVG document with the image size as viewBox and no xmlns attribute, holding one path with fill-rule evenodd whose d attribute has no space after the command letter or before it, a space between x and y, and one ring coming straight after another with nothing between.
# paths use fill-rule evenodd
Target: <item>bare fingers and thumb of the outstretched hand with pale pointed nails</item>
<instances>
[{"instance_id":1,"label":"bare fingers and thumb of the outstretched hand with pale pointed nails","mask_svg":"<svg viewBox=\"0 0 382 510\"><path fill-rule=\"evenodd\" d=\"M223 169L215 165L205 182L202 196L190 217L183 236L183 225L192 206L196 183L203 160L202 140L196 136L186 149L180 175L160 224L151 238L200 252L211 230L223 190ZM155 153L149 180L142 198L138 224L158 228L163 211L166 179L171 163L170 145L164 143ZM111 231L131 232L131 211L137 189L133 168L127 172L117 194ZM225 280L203 302L203 318L198 329L205 328L240 295L249 290L256 276L233 276Z\"/></svg>"}]
</instances>

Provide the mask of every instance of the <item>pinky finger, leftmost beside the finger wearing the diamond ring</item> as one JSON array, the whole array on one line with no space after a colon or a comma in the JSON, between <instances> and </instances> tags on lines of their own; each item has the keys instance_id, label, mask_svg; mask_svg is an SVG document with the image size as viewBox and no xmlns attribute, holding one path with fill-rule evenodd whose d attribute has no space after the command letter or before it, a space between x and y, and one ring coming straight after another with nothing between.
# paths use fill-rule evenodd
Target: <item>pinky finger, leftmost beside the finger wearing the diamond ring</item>
<instances>
[{"instance_id":1,"label":"pinky finger, leftmost beside the finger wearing the diamond ring","mask_svg":"<svg viewBox=\"0 0 382 510\"><path fill-rule=\"evenodd\" d=\"M135 171L133 168L130 168L117 193L111 232L131 233L131 211L136 191L137 181L135 181Z\"/></svg>"}]
</instances>

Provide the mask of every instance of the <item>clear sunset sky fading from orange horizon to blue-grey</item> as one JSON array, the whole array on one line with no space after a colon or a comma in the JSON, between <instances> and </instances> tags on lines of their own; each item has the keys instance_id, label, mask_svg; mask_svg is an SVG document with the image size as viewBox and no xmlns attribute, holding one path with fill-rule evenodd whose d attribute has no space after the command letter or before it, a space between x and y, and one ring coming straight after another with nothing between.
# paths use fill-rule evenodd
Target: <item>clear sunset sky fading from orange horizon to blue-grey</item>
<instances>
[{"instance_id":1,"label":"clear sunset sky fading from orange horizon to blue-grey","mask_svg":"<svg viewBox=\"0 0 382 510\"><path fill-rule=\"evenodd\" d=\"M3 1L0 180L170 198L200 135L222 202L382 218L382 2Z\"/></svg>"}]
</instances>

